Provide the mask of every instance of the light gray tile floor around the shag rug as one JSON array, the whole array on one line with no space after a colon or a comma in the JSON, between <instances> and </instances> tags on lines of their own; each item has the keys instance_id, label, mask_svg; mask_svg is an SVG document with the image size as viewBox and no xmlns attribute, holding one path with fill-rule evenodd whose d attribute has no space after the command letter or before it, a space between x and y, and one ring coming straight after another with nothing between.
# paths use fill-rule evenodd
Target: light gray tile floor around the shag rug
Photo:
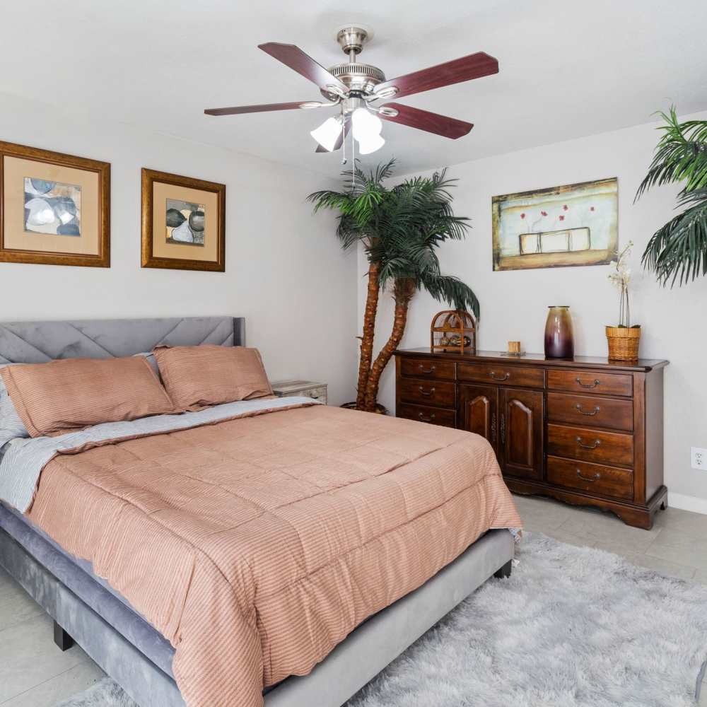
<instances>
[{"instance_id":1,"label":"light gray tile floor around the shag rug","mask_svg":"<svg viewBox=\"0 0 707 707\"><path fill-rule=\"evenodd\" d=\"M639 530L588 508L515 498L527 530L707 584L707 515L668 508L658 514L653 530ZM62 653L54 645L51 619L0 570L0 706L52 707L102 676L78 646ZM707 707L707 679L700 706Z\"/></svg>"}]
</instances>

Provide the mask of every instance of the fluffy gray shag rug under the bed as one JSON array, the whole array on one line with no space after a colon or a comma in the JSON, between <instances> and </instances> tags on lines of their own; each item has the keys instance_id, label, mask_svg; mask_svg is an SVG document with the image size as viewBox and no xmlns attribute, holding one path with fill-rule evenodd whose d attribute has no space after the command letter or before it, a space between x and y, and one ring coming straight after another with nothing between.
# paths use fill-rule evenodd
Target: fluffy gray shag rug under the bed
<instances>
[{"instance_id":1,"label":"fluffy gray shag rug under the bed","mask_svg":"<svg viewBox=\"0 0 707 707\"><path fill-rule=\"evenodd\" d=\"M707 587L528 533L346 707L694 707ZM57 706L59 707L59 706ZM60 707L136 707L110 679Z\"/></svg>"}]
</instances>

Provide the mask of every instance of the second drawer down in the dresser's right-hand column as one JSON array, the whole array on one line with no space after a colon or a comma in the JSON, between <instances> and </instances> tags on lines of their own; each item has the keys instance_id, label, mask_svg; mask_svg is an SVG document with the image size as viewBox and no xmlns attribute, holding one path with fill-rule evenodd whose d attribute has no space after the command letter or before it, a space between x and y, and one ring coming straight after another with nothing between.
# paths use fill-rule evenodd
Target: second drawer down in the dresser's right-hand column
<instances>
[{"instance_id":1,"label":"second drawer down in the dresser's right-hand column","mask_svg":"<svg viewBox=\"0 0 707 707\"><path fill-rule=\"evenodd\" d=\"M590 395L547 394L547 417L552 422L633 430L633 402Z\"/></svg>"}]
</instances>

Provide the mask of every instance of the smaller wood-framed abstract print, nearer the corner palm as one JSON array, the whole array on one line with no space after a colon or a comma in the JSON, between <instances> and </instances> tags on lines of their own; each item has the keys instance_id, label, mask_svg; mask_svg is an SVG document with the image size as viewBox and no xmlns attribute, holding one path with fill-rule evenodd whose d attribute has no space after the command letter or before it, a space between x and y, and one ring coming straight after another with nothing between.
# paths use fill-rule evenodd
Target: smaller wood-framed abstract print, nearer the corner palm
<instances>
[{"instance_id":1,"label":"smaller wood-framed abstract print, nearer the corner palm","mask_svg":"<svg viewBox=\"0 0 707 707\"><path fill-rule=\"evenodd\" d=\"M142 170L142 267L226 270L226 185Z\"/></svg>"}]
</instances>

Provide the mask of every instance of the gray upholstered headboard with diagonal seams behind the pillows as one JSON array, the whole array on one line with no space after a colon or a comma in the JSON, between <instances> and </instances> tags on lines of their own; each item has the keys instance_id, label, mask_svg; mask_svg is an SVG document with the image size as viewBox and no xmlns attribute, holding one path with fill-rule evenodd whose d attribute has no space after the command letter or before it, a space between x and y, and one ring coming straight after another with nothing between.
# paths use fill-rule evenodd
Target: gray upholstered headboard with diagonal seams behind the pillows
<instances>
[{"instance_id":1,"label":"gray upholstered headboard with diagonal seams behind the pillows","mask_svg":"<svg viewBox=\"0 0 707 707\"><path fill-rule=\"evenodd\" d=\"M243 317L101 319L0 324L0 363L111 358L172 346L245 345Z\"/></svg>"}]
</instances>

